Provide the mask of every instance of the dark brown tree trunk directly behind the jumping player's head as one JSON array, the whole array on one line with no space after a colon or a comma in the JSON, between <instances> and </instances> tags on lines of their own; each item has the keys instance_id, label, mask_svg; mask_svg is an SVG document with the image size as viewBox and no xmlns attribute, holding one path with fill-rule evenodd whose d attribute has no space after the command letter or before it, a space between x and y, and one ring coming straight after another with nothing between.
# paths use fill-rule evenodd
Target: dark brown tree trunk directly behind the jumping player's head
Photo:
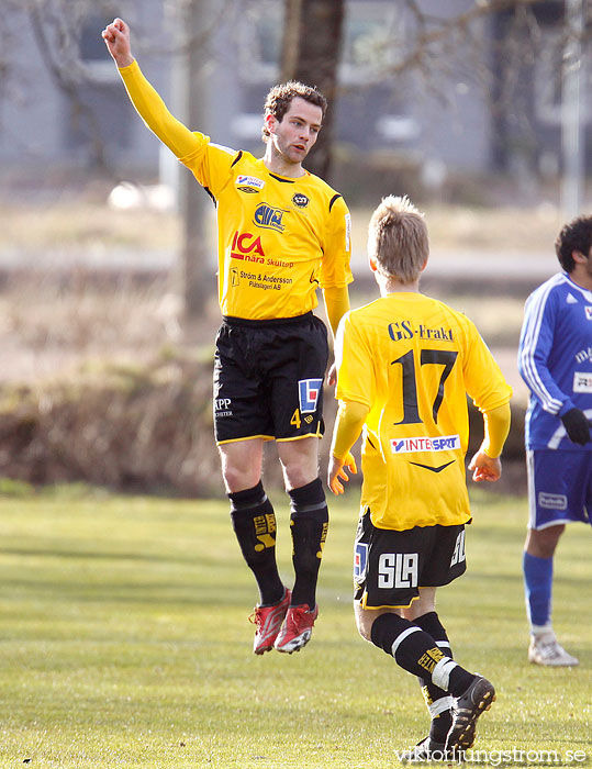
<instances>
[{"instance_id":1,"label":"dark brown tree trunk directly behind the jumping player's head","mask_svg":"<svg viewBox=\"0 0 592 769\"><path fill-rule=\"evenodd\" d=\"M343 21L344 0L286 0L281 79L316 86L328 101L323 130L304 164L323 179L331 174Z\"/></svg>"}]
</instances>

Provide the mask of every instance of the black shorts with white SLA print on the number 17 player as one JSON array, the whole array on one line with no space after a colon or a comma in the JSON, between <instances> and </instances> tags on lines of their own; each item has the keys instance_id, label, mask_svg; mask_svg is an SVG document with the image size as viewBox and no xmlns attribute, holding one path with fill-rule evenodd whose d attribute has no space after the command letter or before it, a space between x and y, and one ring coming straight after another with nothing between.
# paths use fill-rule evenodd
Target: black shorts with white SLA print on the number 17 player
<instances>
[{"instance_id":1,"label":"black shorts with white SLA print on the number 17 player","mask_svg":"<svg viewBox=\"0 0 592 769\"><path fill-rule=\"evenodd\" d=\"M420 588L438 588L467 568L465 525L377 528L361 516L354 550L355 599L365 609L409 606Z\"/></svg>"}]
</instances>

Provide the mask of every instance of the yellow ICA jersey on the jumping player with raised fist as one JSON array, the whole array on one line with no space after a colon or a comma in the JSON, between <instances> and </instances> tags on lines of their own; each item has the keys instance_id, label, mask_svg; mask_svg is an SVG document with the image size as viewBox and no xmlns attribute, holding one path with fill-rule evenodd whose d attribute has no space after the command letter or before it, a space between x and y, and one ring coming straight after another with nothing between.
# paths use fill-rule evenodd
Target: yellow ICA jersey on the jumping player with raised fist
<instances>
[{"instance_id":1,"label":"yellow ICA jersey on the jumping player with raised fist","mask_svg":"<svg viewBox=\"0 0 592 769\"><path fill-rule=\"evenodd\" d=\"M319 287L353 281L351 219L338 192L309 171L299 178L271 174L263 159L189 131L137 62L120 74L147 126L214 199L223 315L295 317L317 305Z\"/></svg>"}]
</instances>

